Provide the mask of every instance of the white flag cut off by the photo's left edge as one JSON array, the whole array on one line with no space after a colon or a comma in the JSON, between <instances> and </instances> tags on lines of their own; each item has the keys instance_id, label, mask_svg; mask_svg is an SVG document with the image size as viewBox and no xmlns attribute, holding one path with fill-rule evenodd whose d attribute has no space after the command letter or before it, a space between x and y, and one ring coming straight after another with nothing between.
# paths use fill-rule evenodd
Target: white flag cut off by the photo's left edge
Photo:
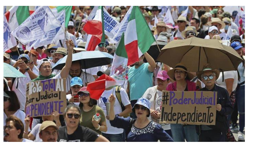
<instances>
[{"instance_id":1,"label":"white flag cut off by the photo's left edge","mask_svg":"<svg viewBox=\"0 0 256 145\"><path fill-rule=\"evenodd\" d=\"M9 24L3 15L3 52L17 45L16 39L11 35Z\"/></svg>"}]
</instances>

